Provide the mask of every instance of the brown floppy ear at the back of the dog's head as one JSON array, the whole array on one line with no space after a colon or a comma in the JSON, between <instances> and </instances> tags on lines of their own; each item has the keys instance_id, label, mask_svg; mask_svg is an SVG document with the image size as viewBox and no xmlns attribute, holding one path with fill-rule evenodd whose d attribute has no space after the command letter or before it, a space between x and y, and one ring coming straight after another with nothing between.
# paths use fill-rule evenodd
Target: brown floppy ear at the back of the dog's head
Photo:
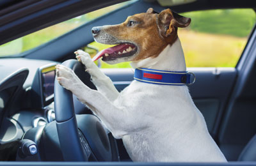
<instances>
[{"instance_id":1,"label":"brown floppy ear at the back of the dog's head","mask_svg":"<svg viewBox=\"0 0 256 166\"><path fill-rule=\"evenodd\" d=\"M164 37L172 34L177 27L189 26L190 22L190 18L183 17L170 9L163 10L158 15L159 31Z\"/></svg>"}]
</instances>

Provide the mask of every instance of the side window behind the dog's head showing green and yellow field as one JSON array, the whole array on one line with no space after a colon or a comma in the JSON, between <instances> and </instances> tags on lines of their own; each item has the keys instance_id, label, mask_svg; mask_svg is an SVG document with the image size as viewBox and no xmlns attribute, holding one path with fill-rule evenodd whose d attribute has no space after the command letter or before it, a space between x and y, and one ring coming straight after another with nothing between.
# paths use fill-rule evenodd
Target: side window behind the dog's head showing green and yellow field
<instances>
[{"instance_id":1,"label":"side window behind the dog's head showing green and yellow field","mask_svg":"<svg viewBox=\"0 0 256 166\"><path fill-rule=\"evenodd\" d=\"M187 28L180 28L188 67L235 67L255 25L252 9L204 10L180 13L191 18ZM109 45L90 43L99 50ZM102 68L130 68L129 63L106 64Z\"/></svg>"}]
</instances>

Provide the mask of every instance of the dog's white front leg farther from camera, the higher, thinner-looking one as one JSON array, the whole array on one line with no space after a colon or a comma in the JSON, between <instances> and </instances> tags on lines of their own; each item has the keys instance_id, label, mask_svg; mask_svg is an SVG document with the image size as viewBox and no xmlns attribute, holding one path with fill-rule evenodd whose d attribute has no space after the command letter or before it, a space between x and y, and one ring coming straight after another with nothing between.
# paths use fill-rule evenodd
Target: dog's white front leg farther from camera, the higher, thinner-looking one
<instances>
[{"instance_id":1,"label":"dog's white front leg farther from camera, the higher, thinner-looking one","mask_svg":"<svg viewBox=\"0 0 256 166\"><path fill-rule=\"evenodd\" d=\"M110 101L115 100L119 93L111 79L100 71L98 66L93 63L90 55L83 50L77 50L75 52L77 60L81 61L86 66L86 72L91 75L93 84L97 87L98 91L106 96Z\"/></svg>"}]
</instances>

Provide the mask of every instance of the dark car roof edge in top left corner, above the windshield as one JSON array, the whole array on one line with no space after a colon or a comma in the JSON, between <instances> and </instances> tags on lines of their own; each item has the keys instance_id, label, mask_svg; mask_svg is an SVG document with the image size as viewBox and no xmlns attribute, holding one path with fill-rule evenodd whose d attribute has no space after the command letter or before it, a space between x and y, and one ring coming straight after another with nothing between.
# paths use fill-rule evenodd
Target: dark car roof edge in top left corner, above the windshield
<instances>
[{"instance_id":1,"label":"dark car roof edge in top left corner, above the windshield","mask_svg":"<svg viewBox=\"0 0 256 166\"><path fill-rule=\"evenodd\" d=\"M6 8L0 11L0 45L84 13L122 2L124 0L29 0L13 2L11 6L5 4Z\"/></svg>"}]
</instances>

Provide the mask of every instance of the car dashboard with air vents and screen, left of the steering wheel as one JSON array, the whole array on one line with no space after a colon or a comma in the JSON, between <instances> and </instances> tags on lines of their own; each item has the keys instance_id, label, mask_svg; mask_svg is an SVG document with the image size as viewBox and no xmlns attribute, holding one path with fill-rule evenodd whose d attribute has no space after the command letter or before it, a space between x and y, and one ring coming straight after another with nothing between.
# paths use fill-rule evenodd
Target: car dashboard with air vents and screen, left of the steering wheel
<instances>
[{"instance_id":1,"label":"car dashboard with air vents and screen, left of the steering wheel","mask_svg":"<svg viewBox=\"0 0 256 166\"><path fill-rule=\"evenodd\" d=\"M0 59L0 144L21 139L54 115L54 61Z\"/></svg>"}]
</instances>

